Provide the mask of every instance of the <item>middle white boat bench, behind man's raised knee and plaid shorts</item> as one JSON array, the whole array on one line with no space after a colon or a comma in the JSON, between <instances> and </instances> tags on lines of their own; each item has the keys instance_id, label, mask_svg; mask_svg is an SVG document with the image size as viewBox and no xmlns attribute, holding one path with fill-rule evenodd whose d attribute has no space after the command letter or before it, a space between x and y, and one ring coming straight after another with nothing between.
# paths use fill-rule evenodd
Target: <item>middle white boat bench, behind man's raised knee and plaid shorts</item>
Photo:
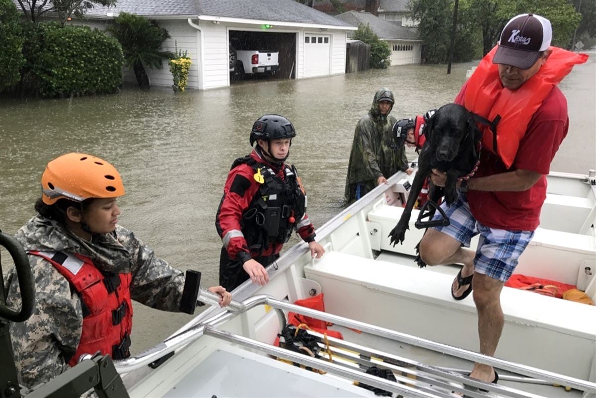
<instances>
[{"instance_id":1,"label":"middle white boat bench, behind man's raised knee and plaid shorts","mask_svg":"<svg viewBox=\"0 0 596 398\"><path fill-rule=\"evenodd\" d=\"M377 240L371 239L371 246L374 250L387 250L415 256L415 247L424 234L424 230L416 229L414 226L414 222L418 218L418 210L412 210L409 230L406 231L403 245L393 246L387 237L398 223L402 212L402 207L388 206L383 203L378 203L368 212L370 231L377 229L377 232L380 232ZM377 236L377 232L375 232L375 236ZM478 237L474 237L471 241L471 248L475 249L477 244ZM580 290L585 290L594 280L595 265L596 240L593 235L538 228L532 241L520 257L515 272L576 285ZM587 273L586 267L591 268Z\"/></svg>"}]
</instances>

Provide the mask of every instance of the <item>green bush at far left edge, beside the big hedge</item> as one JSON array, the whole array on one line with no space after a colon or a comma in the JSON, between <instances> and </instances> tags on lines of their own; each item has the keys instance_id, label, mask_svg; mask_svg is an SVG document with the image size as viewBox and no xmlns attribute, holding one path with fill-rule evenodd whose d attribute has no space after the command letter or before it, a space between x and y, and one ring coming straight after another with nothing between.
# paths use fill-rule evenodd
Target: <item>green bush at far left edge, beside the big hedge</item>
<instances>
[{"instance_id":1,"label":"green bush at far left edge, beside the big hedge","mask_svg":"<svg viewBox=\"0 0 596 398\"><path fill-rule=\"evenodd\" d=\"M22 48L17 8L12 0L0 0L0 90L20 80L21 67L25 63Z\"/></svg>"}]
</instances>

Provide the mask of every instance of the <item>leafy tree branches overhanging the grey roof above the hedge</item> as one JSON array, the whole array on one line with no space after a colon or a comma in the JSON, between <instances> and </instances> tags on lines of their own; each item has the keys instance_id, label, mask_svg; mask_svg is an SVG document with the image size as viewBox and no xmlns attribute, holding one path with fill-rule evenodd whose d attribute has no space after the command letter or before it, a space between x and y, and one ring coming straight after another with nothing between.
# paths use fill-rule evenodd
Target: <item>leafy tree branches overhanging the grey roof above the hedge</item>
<instances>
[{"instance_id":1,"label":"leafy tree branches overhanging the grey roof above the hedge","mask_svg":"<svg viewBox=\"0 0 596 398\"><path fill-rule=\"evenodd\" d=\"M82 17L89 8L95 5L110 7L116 5L117 0L17 0L21 10L33 23L45 13L57 13L60 23L64 25L71 16Z\"/></svg>"}]
</instances>

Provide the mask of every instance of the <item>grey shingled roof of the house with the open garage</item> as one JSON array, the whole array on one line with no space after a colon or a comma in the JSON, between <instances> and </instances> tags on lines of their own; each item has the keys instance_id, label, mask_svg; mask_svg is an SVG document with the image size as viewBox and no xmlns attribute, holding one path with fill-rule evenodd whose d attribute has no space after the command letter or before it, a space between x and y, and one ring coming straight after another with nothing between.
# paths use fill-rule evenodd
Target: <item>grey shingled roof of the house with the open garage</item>
<instances>
[{"instance_id":1,"label":"grey shingled roof of the house with the open garage","mask_svg":"<svg viewBox=\"0 0 596 398\"><path fill-rule=\"evenodd\" d=\"M20 9L18 1L13 1ZM294 0L118 0L115 7L95 6L85 15L88 18L109 18L120 12L145 17L206 16L350 27L331 15Z\"/></svg>"}]
</instances>

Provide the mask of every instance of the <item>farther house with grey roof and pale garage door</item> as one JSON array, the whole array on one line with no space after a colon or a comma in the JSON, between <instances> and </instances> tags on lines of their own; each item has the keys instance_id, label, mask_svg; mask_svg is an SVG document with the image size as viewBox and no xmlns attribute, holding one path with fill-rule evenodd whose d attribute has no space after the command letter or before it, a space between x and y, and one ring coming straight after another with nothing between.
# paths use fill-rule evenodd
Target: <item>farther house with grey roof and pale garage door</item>
<instances>
[{"instance_id":1,"label":"farther house with grey roof and pale garage door","mask_svg":"<svg viewBox=\"0 0 596 398\"><path fill-rule=\"evenodd\" d=\"M347 11L336 18L356 27L358 24L370 26L381 40L389 43L391 66L420 64L422 41L417 29L388 22L364 11Z\"/></svg>"}]
</instances>

